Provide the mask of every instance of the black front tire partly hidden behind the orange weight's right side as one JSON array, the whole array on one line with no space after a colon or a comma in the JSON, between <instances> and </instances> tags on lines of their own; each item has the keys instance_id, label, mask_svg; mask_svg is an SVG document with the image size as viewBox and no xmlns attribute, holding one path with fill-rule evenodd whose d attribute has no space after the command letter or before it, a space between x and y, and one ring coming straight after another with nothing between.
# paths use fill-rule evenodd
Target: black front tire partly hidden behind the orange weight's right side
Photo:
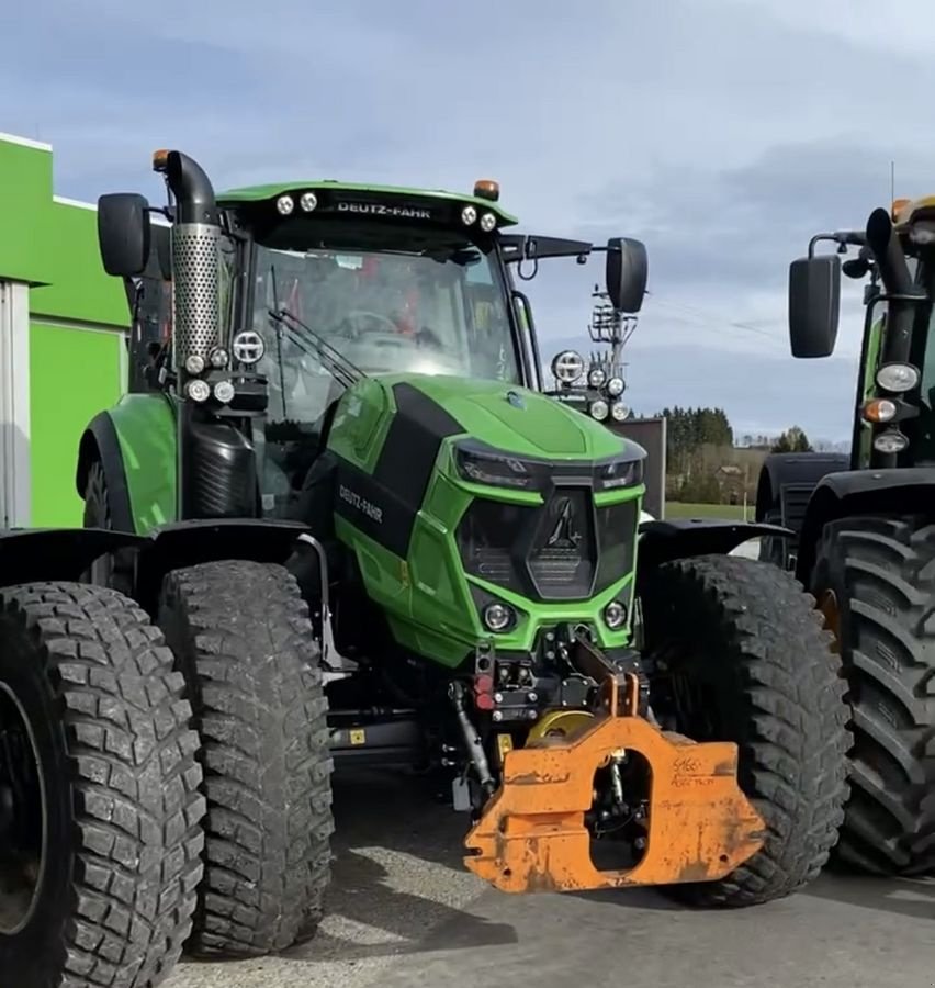
<instances>
[{"instance_id":1,"label":"black front tire partly hidden behind the orange weight's right side","mask_svg":"<svg viewBox=\"0 0 935 988\"><path fill-rule=\"evenodd\" d=\"M838 658L813 599L774 565L713 555L660 566L642 605L650 669L666 666L651 678L655 712L695 741L737 743L741 789L768 830L723 880L666 891L698 906L751 906L803 888L837 840L850 743ZM679 681L694 698L676 701Z\"/></svg>"}]
</instances>

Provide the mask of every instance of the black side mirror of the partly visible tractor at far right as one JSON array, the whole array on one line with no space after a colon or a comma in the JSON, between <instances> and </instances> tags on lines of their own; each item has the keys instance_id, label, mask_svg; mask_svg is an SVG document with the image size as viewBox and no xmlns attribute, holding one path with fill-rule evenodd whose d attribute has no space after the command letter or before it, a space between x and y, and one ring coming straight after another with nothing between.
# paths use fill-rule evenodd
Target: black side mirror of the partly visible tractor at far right
<instances>
[{"instance_id":1,"label":"black side mirror of the partly visible tractor at far right","mask_svg":"<svg viewBox=\"0 0 935 988\"><path fill-rule=\"evenodd\" d=\"M789 266L789 345L793 357L830 357L837 339L841 258L801 257Z\"/></svg>"}]
</instances>

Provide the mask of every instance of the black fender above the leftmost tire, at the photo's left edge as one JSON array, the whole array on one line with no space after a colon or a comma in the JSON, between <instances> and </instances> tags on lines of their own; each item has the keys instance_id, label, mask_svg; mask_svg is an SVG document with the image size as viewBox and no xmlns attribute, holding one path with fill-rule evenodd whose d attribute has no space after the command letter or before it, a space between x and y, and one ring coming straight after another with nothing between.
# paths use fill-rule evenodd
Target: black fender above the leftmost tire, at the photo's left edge
<instances>
[{"instance_id":1,"label":"black fender above the leftmost tire, at the photo's left edge","mask_svg":"<svg viewBox=\"0 0 935 988\"><path fill-rule=\"evenodd\" d=\"M117 549L143 548L142 536L99 528L24 528L0 532L0 586L77 581Z\"/></svg>"}]
</instances>

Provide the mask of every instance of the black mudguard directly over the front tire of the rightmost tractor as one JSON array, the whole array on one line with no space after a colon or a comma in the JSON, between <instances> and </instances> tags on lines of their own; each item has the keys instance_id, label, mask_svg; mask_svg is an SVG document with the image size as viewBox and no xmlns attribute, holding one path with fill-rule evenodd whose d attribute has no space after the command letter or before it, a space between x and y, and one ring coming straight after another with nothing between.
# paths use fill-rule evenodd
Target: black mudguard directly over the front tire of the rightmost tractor
<instances>
[{"instance_id":1,"label":"black mudguard directly over the front tire of the rightmost tractor","mask_svg":"<svg viewBox=\"0 0 935 988\"><path fill-rule=\"evenodd\" d=\"M818 483L802 523L796 576L807 586L815 548L829 521L847 515L886 512L932 514L935 467L897 467L887 470L846 470L829 473Z\"/></svg>"}]
</instances>

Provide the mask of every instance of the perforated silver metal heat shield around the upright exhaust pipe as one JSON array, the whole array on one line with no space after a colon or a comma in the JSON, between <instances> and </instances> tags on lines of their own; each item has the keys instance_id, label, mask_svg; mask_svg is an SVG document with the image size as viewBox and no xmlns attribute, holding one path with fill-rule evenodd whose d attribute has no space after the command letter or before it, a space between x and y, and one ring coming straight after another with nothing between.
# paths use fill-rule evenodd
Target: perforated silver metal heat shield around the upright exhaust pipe
<instances>
[{"instance_id":1,"label":"perforated silver metal heat shield around the upright exhaust pipe","mask_svg":"<svg viewBox=\"0 0 935 988\"><path fill-rule=\"evenodd\" d=\"M172 282L176 362L192 353L207 357L221 326L221 228L180 223L172 229Z\"/></svg>"}]
</instances>

